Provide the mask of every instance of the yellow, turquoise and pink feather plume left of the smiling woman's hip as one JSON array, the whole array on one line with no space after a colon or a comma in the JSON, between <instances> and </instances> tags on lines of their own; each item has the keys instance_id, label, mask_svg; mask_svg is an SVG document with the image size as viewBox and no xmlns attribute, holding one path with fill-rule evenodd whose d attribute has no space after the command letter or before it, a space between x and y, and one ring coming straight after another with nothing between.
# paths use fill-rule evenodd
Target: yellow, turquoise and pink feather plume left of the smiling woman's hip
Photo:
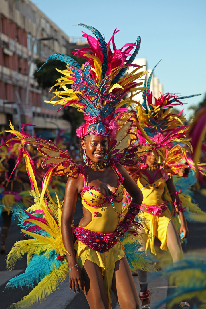
<instances>
[{"instance_id":1,"label":"yellow, turquoise and pink feather plume left of the smiling woman's hip","mask_svg":"<svg viewBox=\"0 0 206 309\"><path fill-rule=\"evenodd\" d=\"M12 269L17 259L27 253L27 269L25 273L12 278L6 288L34 287L20 302L12 307L26 308L34 302L43 301L48 295L56 291L59 284L66 280L68 263L65 259L66 252L61 237L61 204L44 200L35 195L35 205L28 210L16 207L15 214L19 216L19 225L24 234L33 239L22 240L13 246L7 256L7 268Z\"/></svg>"}]
</instances>

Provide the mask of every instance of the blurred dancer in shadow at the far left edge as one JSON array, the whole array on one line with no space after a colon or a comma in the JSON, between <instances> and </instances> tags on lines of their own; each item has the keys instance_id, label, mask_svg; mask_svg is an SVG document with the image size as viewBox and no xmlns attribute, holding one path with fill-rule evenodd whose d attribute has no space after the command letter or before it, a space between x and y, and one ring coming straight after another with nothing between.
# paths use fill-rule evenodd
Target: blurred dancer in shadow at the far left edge
<instances>
[{"instance_id":1,"label":"blurred dancer in shadow at the far left edge","mask_svg":"<svg viewBox=\"0 0 206 309\"><path fill-rule=\"evenodd\" d=\"M3 138L1 143L5 144ZM2 215L1 254L6 253L5 243L11 225L12 206L22 209L32 205L29 191L23 190L23 184L29 183L25 163L17 164L20 152L19 143L0 148L0 214Z\"/></svg>"}]
</instances>

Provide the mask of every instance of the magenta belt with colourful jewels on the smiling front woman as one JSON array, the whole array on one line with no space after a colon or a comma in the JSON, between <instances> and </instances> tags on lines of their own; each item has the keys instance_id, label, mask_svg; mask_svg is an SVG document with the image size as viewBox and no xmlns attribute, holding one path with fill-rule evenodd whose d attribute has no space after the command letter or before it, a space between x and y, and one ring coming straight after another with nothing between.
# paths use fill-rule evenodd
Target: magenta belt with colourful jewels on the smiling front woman
<instances>
[{"instance_id":1,"label":"magenta belt with colourful jewels on the smiling front woman","mask_svg":"<svg viewBox=\"0 0 206 309\"><path fill-rule=\"evenodd\" d=\"M119 233L117 232L111 234L96 233L78 225L73 226L72 229L78 240L100 253L109 251L118 242Z\"/></svg>"}]
</instances>

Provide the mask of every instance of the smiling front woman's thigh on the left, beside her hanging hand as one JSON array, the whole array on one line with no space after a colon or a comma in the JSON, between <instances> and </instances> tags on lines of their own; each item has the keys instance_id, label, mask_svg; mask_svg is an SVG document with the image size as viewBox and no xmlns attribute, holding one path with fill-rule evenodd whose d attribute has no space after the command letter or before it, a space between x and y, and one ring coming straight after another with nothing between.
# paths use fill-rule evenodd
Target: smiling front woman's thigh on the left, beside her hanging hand
<instances>
[{"instance_id":1,"label":"smiling front woman's thigh on the left, beside her hanging hand","mask_svg":"<svg viewBox=\"0 0 206 309\"><path fill-rule=\"evenodd\" d=\"M90 260L86 260L82 272L85 281L84 294L90 309L108 309L107 293L101 268Z\"/></svg>"}]
</instances>

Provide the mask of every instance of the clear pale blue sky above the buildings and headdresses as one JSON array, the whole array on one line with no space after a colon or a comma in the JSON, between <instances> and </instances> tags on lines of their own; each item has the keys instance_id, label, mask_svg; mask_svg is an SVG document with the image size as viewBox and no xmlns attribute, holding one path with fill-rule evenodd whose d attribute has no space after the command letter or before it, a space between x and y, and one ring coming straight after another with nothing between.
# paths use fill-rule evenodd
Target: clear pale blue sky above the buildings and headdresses
<instances>
[{"instance_id":1,"label":"clear pale blue sky above the buildings and headdresses","mask_svg":"<svg viewBox=\"0 0 206 309\"><path fill-rule=\"evenodd\" d=\"M138 57L163 84L163 91L191 95L206 92L206 1L205 0L33 0L36 6L68 36L81 36L85 23L108 41L115 28L117 47L141 36ZM85 31L91 34L89 31ZM186 99L187 106L204 95Z\"/></svg>"}]
</instances>

